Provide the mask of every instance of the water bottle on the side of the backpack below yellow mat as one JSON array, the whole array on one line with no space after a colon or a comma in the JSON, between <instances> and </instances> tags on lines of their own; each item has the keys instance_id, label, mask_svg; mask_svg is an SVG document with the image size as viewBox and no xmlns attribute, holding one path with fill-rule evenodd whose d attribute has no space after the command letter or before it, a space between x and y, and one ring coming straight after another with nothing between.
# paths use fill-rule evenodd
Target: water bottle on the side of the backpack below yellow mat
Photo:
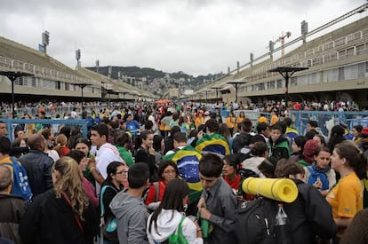
<instances>
[{"instance_id":1,"label":"water bottle on the side of the backpack below yellow mat","mask_svg":"<svg viewBox=\"0 0 368 244\"><path fill-rule=\"evenodd\" d=\"M277 244L292 244L292 225L284 212L282 203L278 204L275 228Z\"/></svg>"}]
</instances>

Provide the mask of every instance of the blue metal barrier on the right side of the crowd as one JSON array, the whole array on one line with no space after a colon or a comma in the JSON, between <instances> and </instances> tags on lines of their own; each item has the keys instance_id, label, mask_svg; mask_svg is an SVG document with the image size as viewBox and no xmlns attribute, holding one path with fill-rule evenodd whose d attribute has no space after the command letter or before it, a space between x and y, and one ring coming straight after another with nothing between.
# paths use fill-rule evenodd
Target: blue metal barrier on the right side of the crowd
<instances>
[{"instance_id":1,"label":"blue metal barrier on the right side of the crowd","mask_svg":"<svg viewBox=\"0 0 368 244\"><path fill-rule=\"evenodd\" d=\"M326 124L332 126L343 122L352 130L356 124L368 127L368 112L329 112L329 111L305 111L292 110L292 121L295 123L295 129L300 135L304 135L307 130L308 121L316 121L325 136L328 136L329 129Z\"/></svg>"}]
</instances>

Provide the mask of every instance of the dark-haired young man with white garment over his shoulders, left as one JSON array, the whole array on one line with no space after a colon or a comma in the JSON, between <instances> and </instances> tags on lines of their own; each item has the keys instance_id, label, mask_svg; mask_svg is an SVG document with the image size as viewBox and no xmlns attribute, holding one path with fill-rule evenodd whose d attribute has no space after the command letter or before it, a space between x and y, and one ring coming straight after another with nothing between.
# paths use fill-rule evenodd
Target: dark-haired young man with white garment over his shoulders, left
<instances>
[{"instance_id":1,"label":"dark-haired young man with white garment over his shoulders, left","mask_svg":"<svg viewBox=\"0 0 368 244\"><path fill-rule=\"evenodd\" d=\"M108 143L108 126L105 124L96 124L91 130L91 142L97 146L96 168L104 179L108 177L106 169L112 161L123 161L116 146ZM90 169L93 170L93 167Z\"/></svg>"}]
</instances>

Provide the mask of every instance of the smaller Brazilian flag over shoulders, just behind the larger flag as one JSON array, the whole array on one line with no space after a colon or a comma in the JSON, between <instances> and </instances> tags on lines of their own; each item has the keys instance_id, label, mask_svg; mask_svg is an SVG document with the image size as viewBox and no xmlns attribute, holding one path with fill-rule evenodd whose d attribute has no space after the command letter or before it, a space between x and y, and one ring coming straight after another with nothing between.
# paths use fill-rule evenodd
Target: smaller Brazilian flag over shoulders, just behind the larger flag
<instances>
[{"instance_id":1,"label":"smaller Brazilian flag over shoulders, just behind the larger flag","mask_svg":"<svg viewBox=\"0 0 368 244\"><path fill-rule=\"evenodd\" d=\"M224 156L230 154L228 140L218 133L213 133L212 135L204 134L204 137L196 142L196 150L199 152L218 153Z\"/></svg>"}]
</instances>

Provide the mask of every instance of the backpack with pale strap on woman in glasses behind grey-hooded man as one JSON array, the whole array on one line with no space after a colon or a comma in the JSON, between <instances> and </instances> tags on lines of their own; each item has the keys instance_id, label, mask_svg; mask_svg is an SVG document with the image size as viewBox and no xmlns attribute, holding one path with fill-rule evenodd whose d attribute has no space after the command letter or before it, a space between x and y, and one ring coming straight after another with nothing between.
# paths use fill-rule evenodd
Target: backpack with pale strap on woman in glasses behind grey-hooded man
<instances>
[{"instance_id":1,"label":"backpack with pale strap on woman in glasses behind grey-hooded man","mask_svg":"<svg viewBox=\"0 0 368 244\"><path fill-rule=\"evenodd\" d=\"M105 193L105 191L108 187L111 188L111 189L114 189L114 191L116 191L116 189L114 187L112 187L111 185L102 186L101 191L100 191L100 210L101 210L101 215L100 215L100 239L101 239L101 243L103 243L103 237L106 237L108 240L113 241L113 242L118 242L119 241L118 238L117 238L116 217L115 216L108 217L108 219L105 223L105 218L104 218L105 207L103 206L103 194Z\"/></svg>"}]
</instances>

